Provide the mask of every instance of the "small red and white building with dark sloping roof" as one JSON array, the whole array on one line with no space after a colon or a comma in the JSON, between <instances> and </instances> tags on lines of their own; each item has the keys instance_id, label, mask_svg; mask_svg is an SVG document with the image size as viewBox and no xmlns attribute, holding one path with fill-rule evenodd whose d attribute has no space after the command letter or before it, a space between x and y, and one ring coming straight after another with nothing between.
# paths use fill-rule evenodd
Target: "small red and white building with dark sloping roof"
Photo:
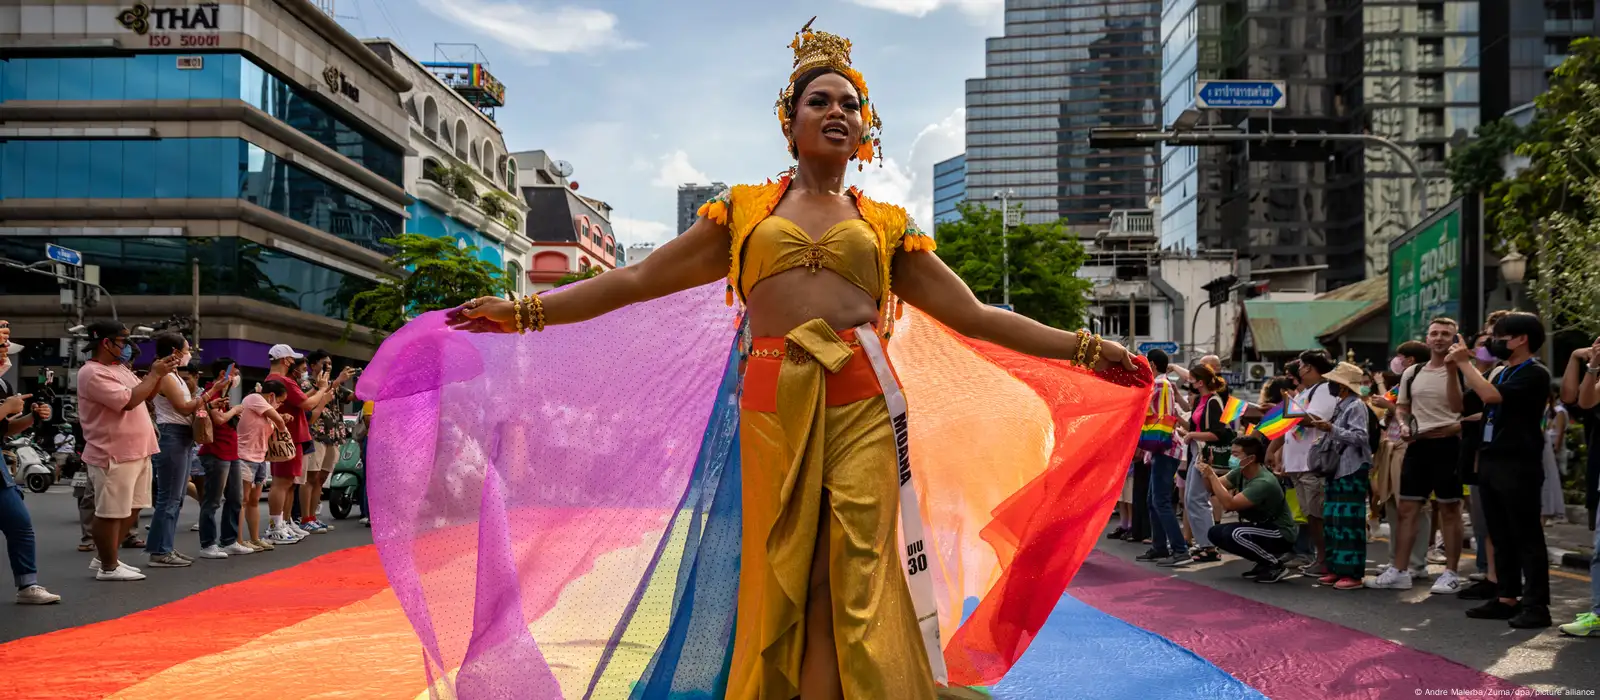
<instances>
[{"instance_id":1,"label":"small red and white building with dark sloping roof","mask_svg":"<svg viewBox=\"0 0 1600 700\"><path fill-rule=\"evenodd\" d=\"M568 179L571 166L552 160L544 150L512 153L517 161L517 187L528 203L523 235L531 241L528 289L544 291L555 281L589 267L616 268L616 233L611 230L611 205L578 193L578 181Z\"/></svg>"}]
</instances>

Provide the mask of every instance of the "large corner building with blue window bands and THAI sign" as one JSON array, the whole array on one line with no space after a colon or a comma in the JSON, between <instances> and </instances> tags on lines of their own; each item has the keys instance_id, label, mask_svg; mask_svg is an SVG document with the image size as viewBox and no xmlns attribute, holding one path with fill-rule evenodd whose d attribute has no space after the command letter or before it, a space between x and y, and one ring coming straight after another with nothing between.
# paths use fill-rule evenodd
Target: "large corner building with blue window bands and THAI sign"
<instances>
[{"instance_id":1,"label":"large corner building with blue window bands and THAI sign","mask_svg":"<svg viewBox=\"0 0 1600 700\"><path fill-rule=\"evenodd\" d=\"M82 251L130 324L198 310L202 361L366 360L344 316L406 229L410 89L307 0L3 3L0 256ZM0 316L64 345L54 280L0 275Z\"/></svg>"}]
</instances>

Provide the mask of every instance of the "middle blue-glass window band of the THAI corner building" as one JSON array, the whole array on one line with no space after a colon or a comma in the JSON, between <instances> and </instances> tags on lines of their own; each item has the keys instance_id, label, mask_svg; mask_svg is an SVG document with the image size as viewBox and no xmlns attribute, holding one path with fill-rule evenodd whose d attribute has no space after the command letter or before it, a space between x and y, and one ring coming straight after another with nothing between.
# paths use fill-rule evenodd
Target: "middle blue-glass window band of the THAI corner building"
<instances>
[{"instance_id":1,"label":"middle blue-glass window band of the THAI corner building","mask_svg":"<svg viewBox=\"0 0 1600 700\"><path fill-rule=\"evenodd\" d=\"M402 217L242 139L5 141L3 200L243 198L378 253Z\"/></svg>"}]
</instances>

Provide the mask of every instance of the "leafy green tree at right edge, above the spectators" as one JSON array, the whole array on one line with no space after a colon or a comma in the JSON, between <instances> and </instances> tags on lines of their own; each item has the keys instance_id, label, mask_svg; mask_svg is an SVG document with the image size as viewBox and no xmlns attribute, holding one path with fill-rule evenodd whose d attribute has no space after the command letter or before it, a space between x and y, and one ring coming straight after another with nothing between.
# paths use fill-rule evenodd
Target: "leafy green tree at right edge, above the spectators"
<instances>
[{"instance_id":1,"label":"leafy green tree at right edge, above the spectators","mask_svg":"<svg viewBox=\"0 0 1600 700\"><path fill-rule=\"evenodd\" d=\"M1570 56L1534 99L1538 113L1518 129L1483 125L1456 149L1450 176L1458 193L1483 195L1488 243L1498 254L1533 256L1531 288L1552 331L1600 331L1600 40L1573 42ZM1506 177L1501 158L1528 166Z\"/></svg>"}]
</instances>

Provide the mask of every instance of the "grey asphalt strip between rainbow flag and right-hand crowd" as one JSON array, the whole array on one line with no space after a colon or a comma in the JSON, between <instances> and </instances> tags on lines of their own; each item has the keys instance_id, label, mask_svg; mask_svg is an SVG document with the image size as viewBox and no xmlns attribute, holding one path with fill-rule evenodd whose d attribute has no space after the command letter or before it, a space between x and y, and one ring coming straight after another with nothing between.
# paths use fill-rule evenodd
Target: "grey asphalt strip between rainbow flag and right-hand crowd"
<instances>
[{"instance_id":1,"label":"grey asphalt strip between rainbow flag and right-hand crowd","mask_svg":"<svg viewBox=\"0 0 1600 700\"><path fill-rule=\"evenodd\" d=\"M1146 545L1102 539L1099 550L1133 561ZM1386 558L1387 551L1382 542L1368 545L1368 572L1376 572L1378 567L1371 555ZM1466 615L1466 609L1478 603L1461 601L1456 596L1432 596L1427 591L1432 582L1419 582L1410 591L1339 591L1317 585L1315 579L1309 577L1264 585L1242 579L1240 574L1248 569L1248 563L1234 556L1224 556L1216 564L1189 564L1178 569L1160 569L1147 563L1138 566L1166 571L1219 591L1437 654L1534 690L1589 697L1600 692L1600 639L1563 636L1554 626L1531 631L1512 630L1496 620L1472 620ZM1429 569L1434 574L1443 571L1442 566ZM1462 569L1472 571L1472 564L1464 559ZM1590 604L1587 572L1552 571L1550 599L1550 615L1557 625L1571 622L1579 612L1587 611Z\"/></svg>"}]
</instances>

